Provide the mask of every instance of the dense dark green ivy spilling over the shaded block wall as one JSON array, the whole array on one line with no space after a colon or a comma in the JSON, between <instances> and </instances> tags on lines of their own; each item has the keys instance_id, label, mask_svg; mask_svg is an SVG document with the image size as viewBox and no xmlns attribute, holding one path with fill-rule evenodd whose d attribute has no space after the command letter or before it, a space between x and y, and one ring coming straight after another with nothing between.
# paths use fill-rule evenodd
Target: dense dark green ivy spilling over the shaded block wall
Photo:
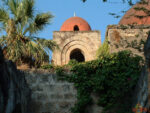
<instances>
[{"instance_id":1,"label":"dense dark green ivy spilling over the shaded block wall","mask_svg":"<svg viewBox=\"0 0 150 113\"><path fill-rule=\"evenodd\" d=\"M92 94L99 95L97 104L104 113L131 113L131 96L142 66L142 58L129 51L121 51L99 59L72 65L71 73L57 68L59 79L73 82L77 89L77 103L72 113L86 113Z\"/></svg>"}]
</instances>

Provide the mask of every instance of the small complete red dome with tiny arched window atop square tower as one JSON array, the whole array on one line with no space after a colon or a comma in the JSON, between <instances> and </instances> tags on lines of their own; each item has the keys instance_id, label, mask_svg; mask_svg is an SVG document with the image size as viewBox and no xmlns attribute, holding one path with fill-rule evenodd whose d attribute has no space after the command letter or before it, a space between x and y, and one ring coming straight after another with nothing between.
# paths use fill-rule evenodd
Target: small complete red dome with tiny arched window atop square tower
<instances>
[{"instance_id":1,"label":"small complete red dome with tiny arched window atop square tower","mask_svg":"<svg viewBox=\"0 0 150 113\"><path fill-rule=\"evenodd\" d=\"M61 26L60 31L90 31L89 24L80 17L71 17Z\"/></svg>"}]
</instances>

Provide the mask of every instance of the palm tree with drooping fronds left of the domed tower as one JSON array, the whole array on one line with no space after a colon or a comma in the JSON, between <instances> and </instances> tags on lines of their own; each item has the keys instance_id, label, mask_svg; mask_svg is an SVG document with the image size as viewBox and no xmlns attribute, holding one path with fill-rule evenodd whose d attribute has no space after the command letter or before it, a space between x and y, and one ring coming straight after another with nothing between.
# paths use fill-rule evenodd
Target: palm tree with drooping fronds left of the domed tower
<instances>
[{"instance_id":1,"label":"palm tree with drooping fronds left of the domed tower","mask_svg":"<svg viewBox=\"0 0 150 113\"><path fill-rule=\"evenodd\" d=\"M0 29L6 35L0 38L0 46L4 56L17 65L33 61L41 65L48 61L47 51L53 50L56 44L52 40L35 37L35 34L50 23L52 14L35 14L34 0L2 1L4 7L0 8Z\"/></svg>"}]
</instances>

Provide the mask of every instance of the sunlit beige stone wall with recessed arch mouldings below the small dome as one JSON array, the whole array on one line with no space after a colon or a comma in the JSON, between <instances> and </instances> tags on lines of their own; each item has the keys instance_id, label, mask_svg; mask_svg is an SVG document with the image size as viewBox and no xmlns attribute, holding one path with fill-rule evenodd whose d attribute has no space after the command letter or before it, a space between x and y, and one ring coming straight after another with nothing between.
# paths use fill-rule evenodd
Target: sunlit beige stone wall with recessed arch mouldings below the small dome
<instances>
[{"instance_id":1,"label":"sunlit beige stone wall with recessed arch mouldings below the small dome","mask_svg":"<svg viewBox=\"0 0 150 113\"><path fill-rule=\"evenodd\" d=\"M53 41L59 49L53 52L52 62L55 65L68 64L70 54L75 49L81 50L85 61L94 60L101 44L100 38L99 31L55 31Z\"/></svg>"}]
</instances>

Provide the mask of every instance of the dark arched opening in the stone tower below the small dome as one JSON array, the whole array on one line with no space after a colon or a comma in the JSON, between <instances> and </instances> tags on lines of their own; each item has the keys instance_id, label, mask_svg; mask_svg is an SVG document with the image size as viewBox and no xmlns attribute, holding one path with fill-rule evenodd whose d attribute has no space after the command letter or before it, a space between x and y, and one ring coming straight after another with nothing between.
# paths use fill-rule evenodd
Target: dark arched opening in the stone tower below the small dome
<instances>
[{"instance_id":1,"label":"dark arched opening in the stone tower below the small dome","mask_svg":"<svg viewBox=\"0 0 150 113\"><path fill-rule=\"evenodd\" d=\"M85 58L80 49L74 49L70 53L70 60L75 59L78 62L84 62Z\"/></svg>"}]
</instances>

